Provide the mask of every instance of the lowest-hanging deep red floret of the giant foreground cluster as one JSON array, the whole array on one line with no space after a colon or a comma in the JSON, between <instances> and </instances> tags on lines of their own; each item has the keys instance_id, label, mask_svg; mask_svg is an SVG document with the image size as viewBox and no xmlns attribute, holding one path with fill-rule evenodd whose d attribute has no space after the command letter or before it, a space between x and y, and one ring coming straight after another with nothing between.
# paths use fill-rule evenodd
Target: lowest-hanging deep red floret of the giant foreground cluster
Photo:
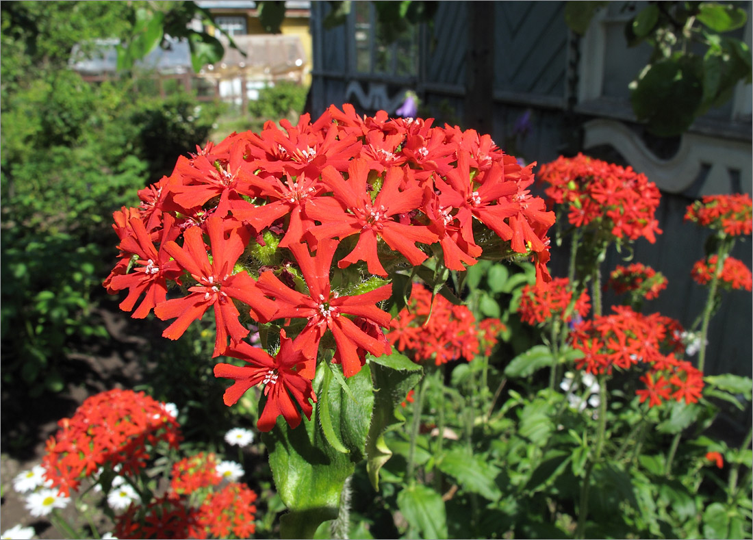
<instances>
[{"instance_id":1,"label":"lowest-hanging deep red floret of the giant foreground cluster","mask_svg":"<svg viewBox=\"0 0 753 540\"><path fill-rule=\"evenodd\" d=\"M240 358L250 364L243 367L215 365L215 377L236 381L225 390L224 402L228 407L236 403L246 390L261 383L267 396L267 404L257 424L261 431L270 431L281 414L292 428L297 427L301 416L293 401L300 405L306 418L311 419L313 407L309 400L316 401L316 395L311 388L311 380L301 377L300 371L297 371L303 367L306 358L294 347L284 330L280 332L280 349L275 356L245 342L228 348L224 355Z\"/></svg>"}]
</instances>

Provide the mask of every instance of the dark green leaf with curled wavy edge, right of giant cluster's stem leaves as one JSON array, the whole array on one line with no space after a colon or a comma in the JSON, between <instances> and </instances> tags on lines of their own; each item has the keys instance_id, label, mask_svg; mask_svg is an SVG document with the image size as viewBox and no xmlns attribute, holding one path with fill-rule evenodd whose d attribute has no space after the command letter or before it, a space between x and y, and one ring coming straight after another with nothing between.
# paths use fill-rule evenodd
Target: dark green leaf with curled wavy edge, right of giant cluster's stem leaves
<instances>
[{"instance_id":1,"label":"dark green leaf with curled wavy edge, right of giant cluster's stem leaves","mask_svg":"<svg viewBox=\"0 0 753 540\"><path fill-rule=\"evenodd\" d=\"M399 407L408 392L418 384L423 370L399 352L378 358L368 355L367 362L373 383L374 403L366 441L366 470L371 485L379 490L379 471L392 456L392 450L384 440L384 432L402 423L395 416L395 407Z\"/></svg>"}]
</instances>

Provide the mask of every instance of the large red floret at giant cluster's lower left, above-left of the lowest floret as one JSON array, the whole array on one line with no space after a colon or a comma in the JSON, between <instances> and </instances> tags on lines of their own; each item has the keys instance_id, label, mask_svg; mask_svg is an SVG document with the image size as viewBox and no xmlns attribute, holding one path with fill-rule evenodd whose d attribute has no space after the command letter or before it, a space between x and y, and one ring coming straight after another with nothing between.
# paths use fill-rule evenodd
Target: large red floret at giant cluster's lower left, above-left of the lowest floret
<instances>
[{"instance_id":1,"label":"large red floret at giant cluster's lower left, above-left of the lowest floret","mask_svg":"<svg viewBox=\"0 0 753 540\"><path fill-rule=\"evenodd\" d=\"M216 216L207 219L206 227L212 249L211 263L201 227L191 227L185 231L183 247L175 242L168 242L164 246L178 266L190 273L197 284L188 288L191 294L186 297L158 304L154 313L163 320L177 317L162 333L164 337L176 340L191 322L201 319L209 307L214 307L217 322L214 355L217 356L227 345L228 335L233 343L248 335L248 328L238 321L239 313L233 298L248 304L255 318L263 322L274 315L274 306L257 290L248 273L233 273L234 265L245 247L239 233L230 230L229 236L226 236L222 221Z\"/></svg>"}]
</instances>

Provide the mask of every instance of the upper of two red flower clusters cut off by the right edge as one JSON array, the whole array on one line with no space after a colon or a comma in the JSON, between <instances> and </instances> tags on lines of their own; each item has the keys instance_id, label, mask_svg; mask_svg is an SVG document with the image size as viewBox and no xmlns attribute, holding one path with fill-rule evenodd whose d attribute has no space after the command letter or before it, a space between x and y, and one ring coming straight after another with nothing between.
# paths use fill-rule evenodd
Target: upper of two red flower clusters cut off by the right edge
<instances>
[{"instance_id":1,"label":"upper of two red flower clusters cut off by the right edge","mask_svg":"<svg viewBox=\"0 0 753 540\"><path fill-rule=\"evenodd\" d=\"M706 195L687 207L686 221L695 221L730 236L753 230L753 200L748 194Z\"/></svg>"}]
</instances>

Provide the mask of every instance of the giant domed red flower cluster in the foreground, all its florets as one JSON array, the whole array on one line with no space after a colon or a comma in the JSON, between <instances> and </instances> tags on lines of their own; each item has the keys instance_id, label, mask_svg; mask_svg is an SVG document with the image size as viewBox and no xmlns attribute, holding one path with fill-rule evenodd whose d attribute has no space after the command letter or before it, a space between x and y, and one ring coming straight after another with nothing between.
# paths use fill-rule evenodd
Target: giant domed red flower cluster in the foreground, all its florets
<instances>
[{"instance_id":1,"label":"giant domed red flower cluster in the foreground, all its florets","mask_svg":"<svg viewBox=\"0 0 753 540\"><path fill-rule=\"evenodd\" d=\"M123 310L141 299L134 317L175 319L163 331L173 340L212 311L214 356L248 363L217 366L217 377L236 381L225 403L264 384L259 428L279 415L297 426L316 401L322 340L334 340L346 377L366 352L386 352L390 316L377 303L391 294L383 278L392 270L434 252L465 270L484 252L528 256L538 279L550 279L554 215L527 190L532 166L489 136L431 122L360 117L344 105L314 123L307 114L281 121L284 131L267 122L260 134L233 133L180 157L172 175L139 191L139 208L115 212L120 259L105 287L128 290ZM255 322L284 328L275 355L244 342Z\"/></svg>"}]
</instances>

